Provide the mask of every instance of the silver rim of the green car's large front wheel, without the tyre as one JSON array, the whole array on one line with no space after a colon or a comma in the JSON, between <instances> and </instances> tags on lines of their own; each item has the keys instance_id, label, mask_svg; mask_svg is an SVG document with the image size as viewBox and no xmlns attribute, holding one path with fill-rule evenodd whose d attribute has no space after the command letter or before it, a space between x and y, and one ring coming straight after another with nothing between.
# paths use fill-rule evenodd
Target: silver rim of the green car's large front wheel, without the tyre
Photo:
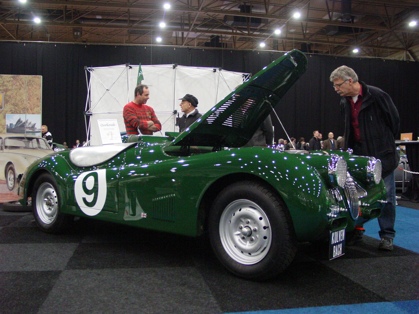
<instances>
[{"instance_id":1,"label":"silver rim of the green car's large front wheel, without the tyre","mask_svg":"<svg viewBox=\"0 0 419 314\"><path fill-rule=\"evenodd\" d=\"M233 260L244 265L256 264L271 247L269 219L256 203L234 201L221 214L220 239Z\"/></svg>"}]
</instances>

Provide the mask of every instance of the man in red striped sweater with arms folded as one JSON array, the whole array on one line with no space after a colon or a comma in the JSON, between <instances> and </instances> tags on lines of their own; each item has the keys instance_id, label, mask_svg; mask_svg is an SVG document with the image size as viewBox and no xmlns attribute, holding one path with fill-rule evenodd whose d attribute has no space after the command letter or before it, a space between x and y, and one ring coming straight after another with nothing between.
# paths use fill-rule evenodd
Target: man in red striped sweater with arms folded
<instances>
[{"instance_id":1,"label":"man in red striped sweater with arms folded","mask_svg":"<svg viewBox=\"0 0 419 314\"><path fill-rule=\"evenodd\" d=\"M147 85L140 84L135 90L132 102L127 103L122 115L124 116L127 134L153 135L153 132L161 131L161 124L156 117L153 108L147 106L150 91Z\"/></svg>"}]
</instances>

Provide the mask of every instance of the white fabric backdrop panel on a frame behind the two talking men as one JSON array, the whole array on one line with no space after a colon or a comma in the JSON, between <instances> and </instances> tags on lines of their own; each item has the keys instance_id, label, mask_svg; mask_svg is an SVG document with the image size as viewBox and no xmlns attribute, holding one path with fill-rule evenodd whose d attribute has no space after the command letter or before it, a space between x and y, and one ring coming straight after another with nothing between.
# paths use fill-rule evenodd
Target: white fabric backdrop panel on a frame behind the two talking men
<instances>
[{"instance_id":1,"label":"white fabric backdrop panel on a frame behind the two talking men","mask_svg":"<svg viewBox=\"0 0 419 314\"><path fill-rule=\"evenodd\" d=\"M192 94L199 100L198 110L207 112L237 85L243 82L243 73L213 71L212 68L182 67L167 65L142 65L143 84L150 87L147 105L153 107L162 124L162 134L178 131L174 110L181 115L178 100ZM115 118L120 131L125 131L122 110L134 99L138 66L101 67L88 69L90 76L90 143L100 145L97 120ZM89 106L89 103L88 105ZM161 135L160 132L155 135Z\"/></svg>"}]
</instances>

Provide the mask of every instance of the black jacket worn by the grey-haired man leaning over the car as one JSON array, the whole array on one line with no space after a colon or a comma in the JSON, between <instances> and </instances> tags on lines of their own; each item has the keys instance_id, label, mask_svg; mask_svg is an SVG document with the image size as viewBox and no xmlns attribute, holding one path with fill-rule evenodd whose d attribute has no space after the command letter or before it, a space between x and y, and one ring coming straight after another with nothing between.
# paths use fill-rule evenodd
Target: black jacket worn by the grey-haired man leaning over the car
<instances>
[{"instance_id":1,"label":"black jacket worn by the grey-haired man leaning over the car","mask_svg":"<svg viewBox=\"0 0 419 314\"><path fill-rule=\"evenodd\" d=\"M374 86L362 85L362 105L358 114L362 155L381 160L383 178L398 166L400 156L396 149L400 118L390 96ZM341 99L341 112L345 117L345 148L354 147L354 129L351 124L351 102Z\"/></svg>"}]
</instances>

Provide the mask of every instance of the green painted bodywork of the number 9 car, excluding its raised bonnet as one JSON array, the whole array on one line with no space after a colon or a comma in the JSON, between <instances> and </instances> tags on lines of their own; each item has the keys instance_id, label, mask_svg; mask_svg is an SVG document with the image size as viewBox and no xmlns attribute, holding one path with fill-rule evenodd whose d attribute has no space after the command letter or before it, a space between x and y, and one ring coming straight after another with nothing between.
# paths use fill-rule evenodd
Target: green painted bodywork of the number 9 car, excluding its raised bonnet
<instances>
[{"instance_id":1,"label":"green painted bodywork of the number 9 car, excluding its raised bonnet","mask_svg":"<svg viewBox=\"0 0 419 314\"><path fill-rule=\"evenodd\" d=\"M84 216L86 214L80 210L75 198L75 179L86 172L105 170L103 209L88 216L196 236L204 229L204 220L198 221L198 217L204 217L199 210L208 189L222 184L223 180L230 182L234 177L239 180L253 178L267 183L285 201L300 241L316 239L330 229L330 207L339 205L329 197L330 185L318 171L327 167L328 152L290 154L268 147L242 147L173 157L165 152L165 148L170 147L167 139L163 144L140 146L140 143L133 143L106 163L83 168L68 162L69 151L48 155L38 161L21 181L23 186L20 188L26 191L23 199L30 196L30 185L33 185L36 173L48 171L57 180L60 194L65 196L62 198L62 212ZM98 191L101 181L96 179L94 182L91 190ZM363 202L373 204L374 208L380 207L377 201L385 199L383 182L363 184L362 187L368 192L362 198ZM342 203L341 207L346 205ZM141 217L142 213L147 214L146 219ZM347 217L348 229L353 229L354 220L350 219L349 213L340 215Z\"/></svg>"}]
</instances>

